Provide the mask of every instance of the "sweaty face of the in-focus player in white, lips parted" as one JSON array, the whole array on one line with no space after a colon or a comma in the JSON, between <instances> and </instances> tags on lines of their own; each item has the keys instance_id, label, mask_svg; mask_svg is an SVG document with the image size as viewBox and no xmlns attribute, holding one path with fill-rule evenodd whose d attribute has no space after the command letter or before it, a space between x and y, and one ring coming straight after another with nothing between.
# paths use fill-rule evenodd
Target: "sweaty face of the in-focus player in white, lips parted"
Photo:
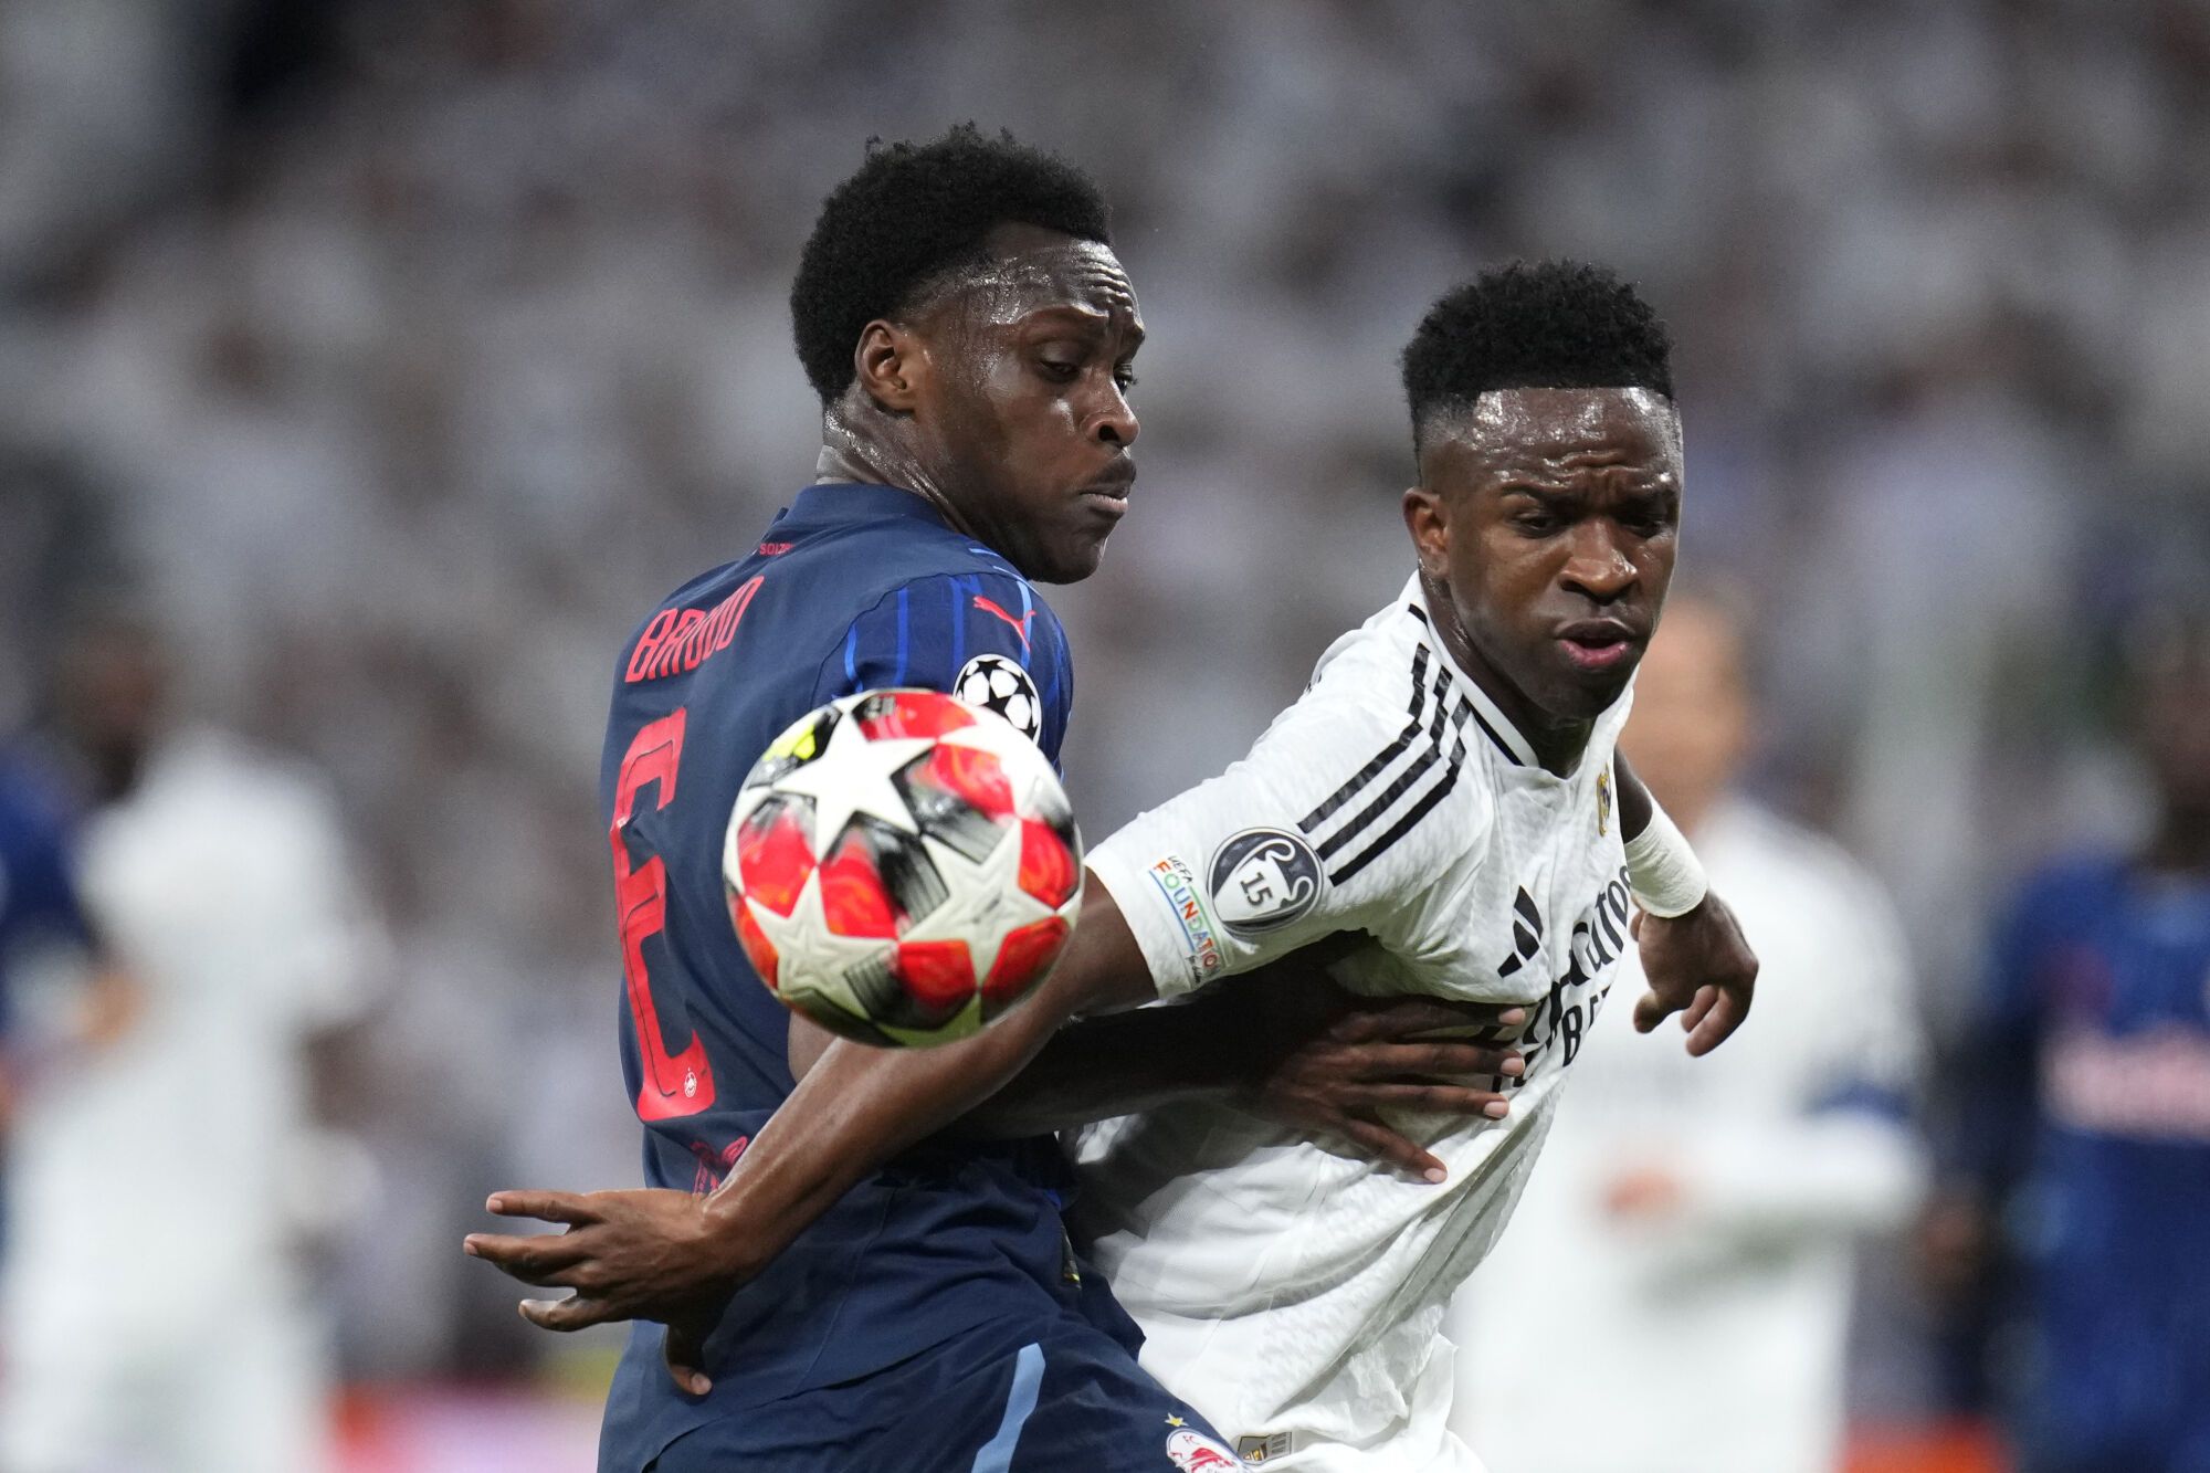
<instances>
[{"instance_id":1,"label":"sweaty face of the in-focus player in white, lips parted","mask_svg":"<svg viewBox=\"0 0 2210 1473\"><path fill-rule=\"evenodd\" d=\"M1419 476L1406 524L1467 646L1454 652L1538 748L1585 728L1627 688L1673 582L1673 403L1490 391L1423 427Z\"/></svg>"}]
</instances>

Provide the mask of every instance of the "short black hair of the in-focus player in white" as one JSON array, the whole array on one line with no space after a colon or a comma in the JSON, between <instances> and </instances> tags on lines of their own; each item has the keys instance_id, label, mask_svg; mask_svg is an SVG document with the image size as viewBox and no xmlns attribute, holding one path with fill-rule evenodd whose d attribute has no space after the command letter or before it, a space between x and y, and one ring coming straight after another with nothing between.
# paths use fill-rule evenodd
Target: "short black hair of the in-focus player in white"
<instances>
[{"instance_id":1,"label":"short black hair of the in-focus player in white","mask_svg":"<svg viewBox=\"0 0 2210 1473\"><path fill-rule=\"evenodd\" d=\"M1452 288L1403 349L1412 442L1490 389L1655 389L1673 396L1673 338L1602 265L1512 261Z\"/></svg>"}]
</instances>

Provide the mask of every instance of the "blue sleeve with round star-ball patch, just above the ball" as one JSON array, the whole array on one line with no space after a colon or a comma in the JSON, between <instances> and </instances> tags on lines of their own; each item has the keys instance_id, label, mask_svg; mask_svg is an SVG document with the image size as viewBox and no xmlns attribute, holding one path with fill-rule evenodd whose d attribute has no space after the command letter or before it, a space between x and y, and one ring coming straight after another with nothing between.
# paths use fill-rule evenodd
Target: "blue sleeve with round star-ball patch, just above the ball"
<instances>
[{"instance_id":1,"label":"blue sleeve with round star-ball patch, just above the ball","mask_svg":"<svg viewBox=\"0 0 2210 1473\"><path fill-rule=\"evenodd\" d=\"M829 652L813 699L886 686L944 690L992 710L1059 763L1074 703L1067 637L1014 573L937 573L891 588Z\"/></svg>"}]
</instances>

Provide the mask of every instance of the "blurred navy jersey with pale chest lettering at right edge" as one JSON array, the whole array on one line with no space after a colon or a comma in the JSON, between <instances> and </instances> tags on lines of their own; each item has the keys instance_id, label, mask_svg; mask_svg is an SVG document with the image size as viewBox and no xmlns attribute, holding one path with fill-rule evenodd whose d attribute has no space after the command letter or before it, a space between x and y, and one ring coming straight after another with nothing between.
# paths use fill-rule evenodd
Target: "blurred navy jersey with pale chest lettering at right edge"
<instances>
[{"instance_id":1,"label":"blurred navy jersey with pale chest lettering at right edge","mask_svg":"<svg viewBox=\"0 0 2210 1473\"><path fill-rule=\"evenodd\" d=\"M2210 882L2044 869L1969 1042L1956 1163L2016 1190L2018 1433L2051 1466L2210 1469Z\"/></svg>"}]
</instances>

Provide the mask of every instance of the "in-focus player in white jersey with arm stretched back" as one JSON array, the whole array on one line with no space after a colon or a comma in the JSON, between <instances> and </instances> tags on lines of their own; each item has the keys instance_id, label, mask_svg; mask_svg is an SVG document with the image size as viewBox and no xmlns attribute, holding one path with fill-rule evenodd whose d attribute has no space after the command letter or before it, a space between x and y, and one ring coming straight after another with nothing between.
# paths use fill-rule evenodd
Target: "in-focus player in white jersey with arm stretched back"
<instances>
[{"instance_id":1,"label":"in-focus player in white jersey with arm stretched back","mask_svg":"<svg viewBox=\"0 0 2210 1473\"><path fill-rule=\"evenodd\" d=\"M1638 1026L1686 1009L1704 1053L1755 980L1677 829L1613 759L1680 524L1666 358L1651 310L1596 268L1516 265L1448 294L1403 363L1417 573L1242 763L1092 854L1098 885L1030 1006L891 1064L833 1044L712 1199L506 1194L570 1230L475 1250L579 1289L537 1323L694 1327L815 1203L944 1124L1105 1119L1081 1146L1081 1212L1154 1376L1251 1462L1478 1466L1445 1427L1436 1325L1509 1216L1635 905ZM1430 1152L1425 1179L1251 1108L1238 1064L1266 991L1211 982L1337 933L1366 938L1333 962L1353 991L1483 1004L1516 1040L1485 1115L1423 1112L1412 1084L1372 1093L1370 1115ZM672 1340L678 1369L712 1360L692 1334Z\"/></svg>"}]
</instances>

